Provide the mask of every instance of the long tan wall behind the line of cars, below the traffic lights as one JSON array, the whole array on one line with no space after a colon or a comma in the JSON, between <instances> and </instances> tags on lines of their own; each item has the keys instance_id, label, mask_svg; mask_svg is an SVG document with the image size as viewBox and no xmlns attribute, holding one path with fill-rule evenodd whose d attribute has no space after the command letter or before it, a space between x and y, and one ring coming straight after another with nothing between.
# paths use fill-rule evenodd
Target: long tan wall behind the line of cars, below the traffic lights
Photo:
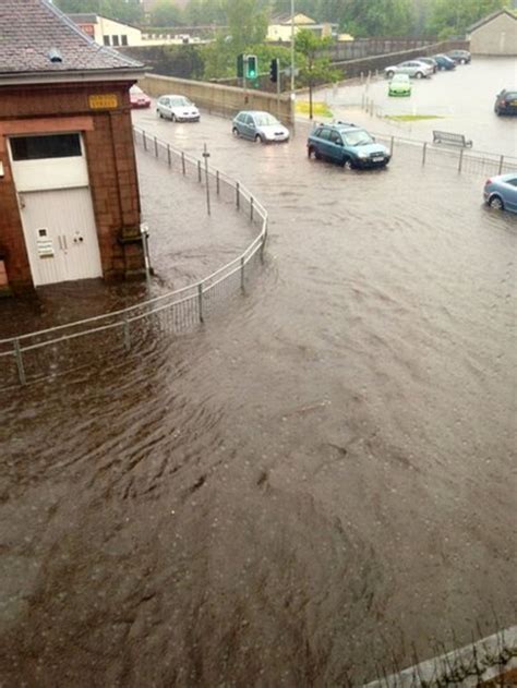
<instances>
[{"instance_id":1,"label":"long tan wall behind the line of cars, below the traffic lights","mask_svg":"<svg viewBox=\"0 0 517 688\"><path fill-rule=\"evenodd\" d=\"M272 93L250 88L245 95L242 88L235 86L155 74L145 74L139 84L149 96L181 94L208 112L232 117L239 110L266 110L278 117L285 124L293 121L292 104L286 95L280 96L277 101L276 95Z\"/></svg>"}]
</instances>

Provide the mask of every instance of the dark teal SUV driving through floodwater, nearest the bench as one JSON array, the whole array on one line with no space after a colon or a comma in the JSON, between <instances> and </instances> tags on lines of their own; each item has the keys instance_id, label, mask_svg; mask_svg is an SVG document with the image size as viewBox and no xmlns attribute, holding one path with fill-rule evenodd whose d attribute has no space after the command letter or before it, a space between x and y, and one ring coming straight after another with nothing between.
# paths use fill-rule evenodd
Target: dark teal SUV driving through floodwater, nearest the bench
<instances>
[{"instance_id":1,"label":"dark teal SUV driving through floodwater, nearest the bench","mask_svg":"<svg viewBox=\"0 0 517 688\"><path fill-rule=\"evenodd\" d=\"M389 150L366 130L348 122L320 124L306 142L309 157L325 158L348 169L386 167Z\"/></svg>"}]
</instances>

